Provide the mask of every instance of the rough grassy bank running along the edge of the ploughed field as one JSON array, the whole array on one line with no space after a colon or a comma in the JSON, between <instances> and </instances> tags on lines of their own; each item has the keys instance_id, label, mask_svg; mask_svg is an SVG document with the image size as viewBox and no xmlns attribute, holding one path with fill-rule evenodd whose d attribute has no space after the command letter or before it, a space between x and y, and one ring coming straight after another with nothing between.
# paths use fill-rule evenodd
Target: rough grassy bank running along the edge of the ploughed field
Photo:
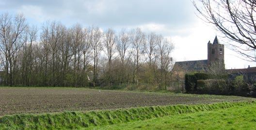
<instances>
[{"instance_id":1,"label":"rough grassy bank running along the edge of the ploughed field","mask_svg":"<svg viewBox=\"0 0 256 130\"><path fill-rule=\"evenodd\" d=\"M127 123L155 117L195 113L256 104L252 102L222 102L197 105L139 107L112 111L63 112L55 114L21 114L0 117L2 130L81 129Z\"/></svg>"}]
</instances>

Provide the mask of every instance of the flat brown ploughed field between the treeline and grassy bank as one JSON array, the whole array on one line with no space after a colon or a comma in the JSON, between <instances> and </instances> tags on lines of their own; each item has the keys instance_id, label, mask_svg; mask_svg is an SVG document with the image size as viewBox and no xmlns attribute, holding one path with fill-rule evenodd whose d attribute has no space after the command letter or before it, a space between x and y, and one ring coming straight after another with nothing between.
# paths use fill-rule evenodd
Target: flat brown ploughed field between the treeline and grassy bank
<instances>
[{"instance_id":1,"label":"flat brown ploughed field between the treeline and grassy bank","mask_svg":"<svg viewBox=\"0 0 256 130\"><path fill-rule=\"evenodd\" d=\"M0 116L249 100L254 99L68 87L0 87Z\"/></svg>"}]
</instances>

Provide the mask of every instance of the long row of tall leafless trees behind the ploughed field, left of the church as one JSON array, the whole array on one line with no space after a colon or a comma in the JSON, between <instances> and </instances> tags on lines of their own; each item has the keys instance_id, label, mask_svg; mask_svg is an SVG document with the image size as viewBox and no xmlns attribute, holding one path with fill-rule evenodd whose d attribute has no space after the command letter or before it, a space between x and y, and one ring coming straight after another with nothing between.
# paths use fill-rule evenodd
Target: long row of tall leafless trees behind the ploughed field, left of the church
<instances>
[{"instance_id":1,"label":"long row of tall leafless trees behind the ploughed field, left of the church","mask_svg":"<svg viewBox=\"0 0 256 130\"><path fill-rule=\"evenodd\" d=\"M150 84L165 89L173 44L141 29L29 26L23 15L0 15L1 84L4 86L112 86Z\"/></svg>"}]
</instances>

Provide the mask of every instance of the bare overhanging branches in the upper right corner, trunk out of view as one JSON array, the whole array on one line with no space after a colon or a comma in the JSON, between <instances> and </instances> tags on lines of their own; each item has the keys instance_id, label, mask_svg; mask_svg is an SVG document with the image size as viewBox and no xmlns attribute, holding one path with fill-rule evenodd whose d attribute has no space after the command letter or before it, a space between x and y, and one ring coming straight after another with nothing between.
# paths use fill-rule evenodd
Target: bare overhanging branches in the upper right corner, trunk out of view
<instances>
[{"instance_id":1,"label":"bare overhanging branches in the upper right corner, trunk out of view","mask_svg":"<svg viewBox=\"0 0 256 130\"><path fill-rule=\"evenodd\" d=\"M194 0L206 22L233 41L231 48L246 60L256 61L256 0Z\"/></svg>"}]
</instances>

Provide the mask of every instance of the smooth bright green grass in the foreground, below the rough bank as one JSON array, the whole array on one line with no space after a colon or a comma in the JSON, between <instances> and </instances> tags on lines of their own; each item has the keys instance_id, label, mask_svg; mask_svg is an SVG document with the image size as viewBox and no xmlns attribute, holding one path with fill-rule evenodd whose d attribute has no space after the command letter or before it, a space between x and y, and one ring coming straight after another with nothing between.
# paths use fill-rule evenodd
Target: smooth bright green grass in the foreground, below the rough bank
<instances>
[{"instance_id":1,"label":"smooth bright green grass in the foreground, below the rough bank","mask_svg":"<svg viewBox=\"0 0 256 130\"><path fill-rule=\"evenodd\" d=\"M256 104L83 130L256 130Z\"/></svg>"}]
</instances>

